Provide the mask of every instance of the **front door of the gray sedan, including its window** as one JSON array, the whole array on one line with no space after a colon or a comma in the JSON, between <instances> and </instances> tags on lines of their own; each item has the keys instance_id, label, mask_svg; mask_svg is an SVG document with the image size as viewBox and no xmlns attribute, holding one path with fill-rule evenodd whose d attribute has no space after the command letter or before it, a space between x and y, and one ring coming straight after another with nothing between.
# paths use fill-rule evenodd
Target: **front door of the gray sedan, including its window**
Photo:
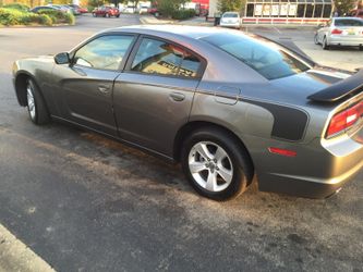
<instances>
[{"instance_id":1,"label":"front door of the gray sedan, including its window","mask_svg":"<svg viewBox=\"0 0 363 272\"><path fill-rule=\"evenodd\" d=\"M114 79L134 36L96 37L74 53L71 65L56 65L62 118L89 128L117 136L112 111Z\"/></svg>"}]
</instances>

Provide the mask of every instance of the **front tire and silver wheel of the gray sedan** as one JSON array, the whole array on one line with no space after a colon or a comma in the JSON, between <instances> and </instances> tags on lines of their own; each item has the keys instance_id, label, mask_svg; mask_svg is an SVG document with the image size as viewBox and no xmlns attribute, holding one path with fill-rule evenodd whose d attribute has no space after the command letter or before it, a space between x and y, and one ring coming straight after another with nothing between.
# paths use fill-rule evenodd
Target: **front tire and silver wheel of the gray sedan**
<instances>
[{"instance_id":1,"label":"front tire and silver wheel of the gray sedan","mask_svg":"<svg viewBox=\"0 0 363 272\"><path fill-rule=\"evenodd\" d=\"M27 112L34 124L44 125L49 123L50 116L39 88L31 78L26 82Z\"/></svg>"}]
</instances>

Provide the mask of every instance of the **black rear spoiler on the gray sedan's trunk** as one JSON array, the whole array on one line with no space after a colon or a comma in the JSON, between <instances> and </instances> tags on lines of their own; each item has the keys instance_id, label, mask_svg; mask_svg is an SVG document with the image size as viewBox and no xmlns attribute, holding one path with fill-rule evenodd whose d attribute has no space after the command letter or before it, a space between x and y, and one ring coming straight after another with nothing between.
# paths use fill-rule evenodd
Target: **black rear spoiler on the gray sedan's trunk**
<instances>
[{"instance_id":1,"label":"black rear spoiler on the gray sedan's trunk","mask_svg":"<svg viewBox=\"0 0 363 272\"><path fill-rule=\"evenodd\" d=\"M335 102L349 95L363 91L363 69L356 74L307 97L316 102Z\"/></svg>"}]
</instances>

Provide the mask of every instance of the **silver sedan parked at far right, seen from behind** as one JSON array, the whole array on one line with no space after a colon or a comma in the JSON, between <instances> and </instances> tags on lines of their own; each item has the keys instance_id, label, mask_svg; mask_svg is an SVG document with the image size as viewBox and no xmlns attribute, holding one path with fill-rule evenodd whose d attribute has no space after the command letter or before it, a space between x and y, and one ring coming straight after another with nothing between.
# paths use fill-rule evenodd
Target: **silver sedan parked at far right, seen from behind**
<instances>
[{"instance_id":1,"label":"silver sedan parked at far right, seen from behind","mask_svg":"<svg viewBox=\"0 0 363 272\"><path fill-rule=\"evenodd\" d=\"M351 46L363 50L363 20L332 17L326 25L319 26L314 42L325 50L329 50L330 46Z\"/></svg>"}]
</instances>

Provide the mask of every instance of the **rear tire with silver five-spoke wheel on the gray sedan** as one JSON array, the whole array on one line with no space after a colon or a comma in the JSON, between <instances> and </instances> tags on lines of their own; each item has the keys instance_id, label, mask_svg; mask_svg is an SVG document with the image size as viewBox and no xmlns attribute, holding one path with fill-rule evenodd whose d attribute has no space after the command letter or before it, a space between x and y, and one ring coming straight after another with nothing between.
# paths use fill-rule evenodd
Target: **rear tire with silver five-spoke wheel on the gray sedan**
<instances>
[{"instance_id":1,"label":"rear tire with silver five-spoke wheel on the gray sedan","mask_svg":"<svg viewBox=\"0 0 363 272\"><path fill-rule=\"evenodd\" d=\"M239 196L253 177L246 151L234 138L213 127L198 129L185 139L181 163L192 187L217 201Z\"/></svg>"}]
</instances>

